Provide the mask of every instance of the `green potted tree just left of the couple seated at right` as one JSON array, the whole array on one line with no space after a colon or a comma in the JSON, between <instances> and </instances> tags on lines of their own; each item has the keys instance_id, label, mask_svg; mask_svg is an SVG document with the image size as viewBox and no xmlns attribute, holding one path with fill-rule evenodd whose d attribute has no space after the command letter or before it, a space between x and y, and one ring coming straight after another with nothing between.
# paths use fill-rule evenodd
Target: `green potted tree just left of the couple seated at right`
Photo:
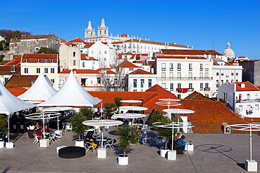
<instances>
[{"instance_id":1,"label":"green potted tree just left of the couple seated at right","mask_svg":"<svg viewBox=\"0 0 260 173\"><path fill-rule=\"evenodd\" d=\"M174 120L171 120L165 113L160 113L160 111L155 111L151 115L150 123L157 123L157 125L165 125L170 124ZM167 127L154 127L159 137L163 137L165 139L164 148L167 149L167 142L171 140L172 137L172 129ZM176 134L177 130L174 130L174 134Z\"/></svg>"}]
</instances>

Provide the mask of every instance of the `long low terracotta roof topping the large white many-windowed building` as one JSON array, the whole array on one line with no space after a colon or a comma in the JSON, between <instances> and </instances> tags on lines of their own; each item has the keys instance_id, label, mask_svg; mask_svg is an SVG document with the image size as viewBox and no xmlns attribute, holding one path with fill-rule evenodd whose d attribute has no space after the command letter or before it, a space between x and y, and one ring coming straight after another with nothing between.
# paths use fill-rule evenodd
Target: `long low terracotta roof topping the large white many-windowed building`
<instances>
[{"instance_id":1,"label":"long low terracotta roof topping the large white many-windowed building","mask_svg":"<svg viewBox=\"0 0 260 173\"><path fill-rule=\"evenodd\" d=\"M162 49L164 55L222 55L216 50L176 50L176 49Z\"/></svg>"}]
</instances>

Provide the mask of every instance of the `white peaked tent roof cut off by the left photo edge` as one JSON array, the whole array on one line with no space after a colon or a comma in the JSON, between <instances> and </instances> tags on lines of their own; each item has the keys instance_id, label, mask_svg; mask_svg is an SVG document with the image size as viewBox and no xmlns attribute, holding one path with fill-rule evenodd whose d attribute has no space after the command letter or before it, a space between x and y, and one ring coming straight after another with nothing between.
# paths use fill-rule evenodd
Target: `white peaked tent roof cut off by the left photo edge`
<instances>
[{"instance_id":1,"label":"white peaked tent roof cut off by the left photo edge","mask_svg":"<svg viewBox=\"0 0 260 173\"><path fill-rule=\"evenodd\" d=\"M34 104L23 102L9 92L2 83L0 83L0 113L10 115L16 111L35 107Z\"/></svg>"}]
</instances>

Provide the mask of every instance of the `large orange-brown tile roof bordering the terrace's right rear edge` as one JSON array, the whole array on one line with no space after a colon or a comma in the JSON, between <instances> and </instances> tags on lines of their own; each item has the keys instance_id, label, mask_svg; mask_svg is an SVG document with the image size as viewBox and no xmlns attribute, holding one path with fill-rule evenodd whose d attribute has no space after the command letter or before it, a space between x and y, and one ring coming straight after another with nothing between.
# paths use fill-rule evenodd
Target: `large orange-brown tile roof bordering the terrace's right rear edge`
<instances>
[{"instance_id":1,"label":"large orange-brown tile roof bordering the terrace's right rear edge","mask_svg":"<svg viewBox=\"0 0 260 173\"><path fill-rule=\"evenodd\" d=\"M247 123L243 118L218 101L182 99L181 104L185 109L195 111L195 113L191 113L188 116L188 121L194 125L192 128L194 133L223 133L221 130L222 123L227 123L228 125ZM235 131L232 130L231 132Z\"/></svg>"}]
</instances>

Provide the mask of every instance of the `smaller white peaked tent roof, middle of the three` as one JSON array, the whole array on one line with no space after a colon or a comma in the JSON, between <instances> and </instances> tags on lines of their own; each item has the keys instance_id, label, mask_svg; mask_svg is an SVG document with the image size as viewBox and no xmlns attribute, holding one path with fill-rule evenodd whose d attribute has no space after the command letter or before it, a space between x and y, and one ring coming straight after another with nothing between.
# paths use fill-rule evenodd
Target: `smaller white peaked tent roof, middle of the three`
<instances>
[{"instance_id":1,"label":"smaller white peaked tent roof, middle of the three","mask_svg":"<svg viewBox=\"0 0 260 173\"><path fill-rule=\"evenodd\" d=\"M56 93L57 91L51 86L49 80L47 80L46 77L44 77L44 74L41 73L32 87L22 95L18 96L18 98L22 100L45 101Z\"/></svg>"}]
</instances>

